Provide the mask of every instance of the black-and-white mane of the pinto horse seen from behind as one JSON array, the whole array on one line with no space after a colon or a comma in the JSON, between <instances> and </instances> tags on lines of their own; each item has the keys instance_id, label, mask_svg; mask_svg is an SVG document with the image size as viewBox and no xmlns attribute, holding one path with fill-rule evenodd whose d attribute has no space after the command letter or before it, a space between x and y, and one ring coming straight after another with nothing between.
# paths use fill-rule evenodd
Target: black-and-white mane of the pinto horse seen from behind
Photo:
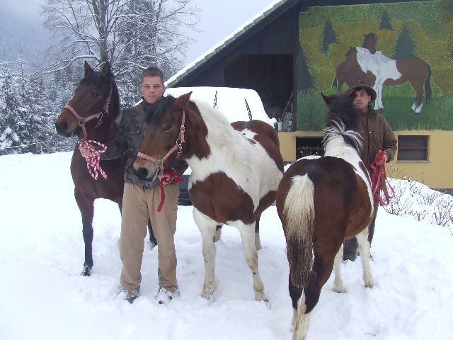
<instances>
[{"instance_id":1,"label":"black-and-white mane of the pinto horse seen from behind","mask_svg":"<svg viewBox=\"0 0 453 340\"><path fill-rule=\"evenodd\" d=\"M359 111L355 108L350 94L338 94L331 96L329 112L326 116L326 128L323 145L326 147L333 138L341 136L346 144L353 147L357 152L362 147L362 137L357 132L357 120Z\"/></svg>"}]
</instances>

